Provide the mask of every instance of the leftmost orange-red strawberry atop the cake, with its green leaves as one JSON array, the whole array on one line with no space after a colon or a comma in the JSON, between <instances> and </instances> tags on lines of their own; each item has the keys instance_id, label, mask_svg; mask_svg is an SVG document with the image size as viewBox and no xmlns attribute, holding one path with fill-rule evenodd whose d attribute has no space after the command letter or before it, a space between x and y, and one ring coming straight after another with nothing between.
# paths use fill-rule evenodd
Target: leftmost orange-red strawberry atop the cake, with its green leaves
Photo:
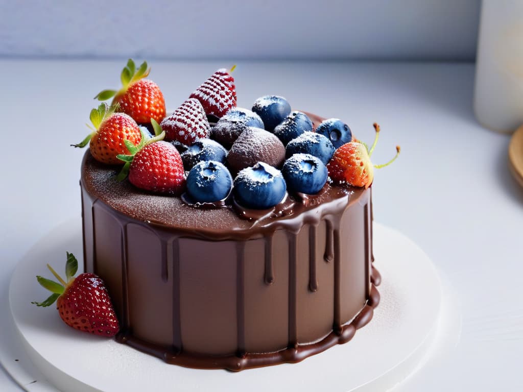
<instances>
[{"instance_id":1,"label":"leftmost orange-red strawberry atop the cake, with its green leaves","mask_svg":"<svg viewBox=\"0 0 523 392\"><path fill-rule=\"evenodd\" d=\"M124 141L138 144L142 136L136 121L125 113L115 113L115 109L101 103L98 109L91 110L89 117L94 131L82 142L71 145L85 147L89 142L90 152L96 160L109 165L121 165L121 160L116 156L127 153Z\"/></svg>"}]
</instances>

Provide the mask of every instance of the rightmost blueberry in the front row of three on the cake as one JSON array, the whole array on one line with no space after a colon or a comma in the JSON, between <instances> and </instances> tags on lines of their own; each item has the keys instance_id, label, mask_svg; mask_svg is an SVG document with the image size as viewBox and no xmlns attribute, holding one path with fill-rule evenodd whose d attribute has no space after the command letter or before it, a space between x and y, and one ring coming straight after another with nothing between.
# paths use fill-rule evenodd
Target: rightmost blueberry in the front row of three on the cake
<instances>
[{"instance_id":1,"label":"rightmost blueberry in the front row of three on the cake","mask_svg":"<svg viewBox=\"0 0 523 392\"><path fill-rule=\"evenodd\" d=\"M316 194L327 182L327 167L311 154L294 154L281 169L289 189L294 192Z\"/></svg>"}]
</instances>

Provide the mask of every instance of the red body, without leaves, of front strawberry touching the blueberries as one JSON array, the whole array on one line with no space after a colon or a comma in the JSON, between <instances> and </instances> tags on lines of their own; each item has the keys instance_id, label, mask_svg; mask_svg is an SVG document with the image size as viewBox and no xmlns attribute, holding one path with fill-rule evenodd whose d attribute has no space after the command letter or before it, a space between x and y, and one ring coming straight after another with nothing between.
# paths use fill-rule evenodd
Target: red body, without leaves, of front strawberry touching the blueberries
<instances>
[{"instance_id":1,"label":"red body, without leaves, of front strawberry touching the blueberries","mask_svg":"<svg viewBox=\"0 0 523 392\"><path fill-rule=\"evenodd\" d=\"M185 190L185 172L180 153L168 142L147 144L134 155L129 181L152 192L181 194Z\"/></svg>"}]
</instances>

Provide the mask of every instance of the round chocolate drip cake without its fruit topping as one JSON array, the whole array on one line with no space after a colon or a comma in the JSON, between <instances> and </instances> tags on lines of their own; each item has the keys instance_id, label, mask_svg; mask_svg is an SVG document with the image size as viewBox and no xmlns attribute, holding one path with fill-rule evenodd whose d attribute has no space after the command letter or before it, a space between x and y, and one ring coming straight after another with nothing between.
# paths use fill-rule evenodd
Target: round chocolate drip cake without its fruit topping
<instances>
[{"instance_id":1,"label":"round chocolate drip cake without its fruit topping","mask_svg":"<svg viewBox=\"0 0 523 392\"><path fill-rule=\"evenodd\" d=\"M372 318L371 188L327 183L269 210L210 208L118 182L118 170L87 151L80 182L84 269L107 284L118 341L238 371L301 361Z\"/></svg>"}]
</instances>

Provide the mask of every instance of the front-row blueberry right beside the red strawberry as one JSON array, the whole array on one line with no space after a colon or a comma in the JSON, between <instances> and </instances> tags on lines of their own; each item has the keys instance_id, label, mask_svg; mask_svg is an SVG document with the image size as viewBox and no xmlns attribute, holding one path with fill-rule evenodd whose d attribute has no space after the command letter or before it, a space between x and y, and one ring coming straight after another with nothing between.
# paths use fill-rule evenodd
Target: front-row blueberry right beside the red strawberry
<instances>
[{"instance_id":1,"label":"front-row blueberry right beside the red strawberry","mask_svg":"<svg viewBox=\"0 0 523 392\"><path fill-rule=\"evenodd\" d=\"M214 160L197 163L187 175L187 193L200 203L224 200L231 188L232 177L229 170Z\"/></svg>"}]
</instances>

